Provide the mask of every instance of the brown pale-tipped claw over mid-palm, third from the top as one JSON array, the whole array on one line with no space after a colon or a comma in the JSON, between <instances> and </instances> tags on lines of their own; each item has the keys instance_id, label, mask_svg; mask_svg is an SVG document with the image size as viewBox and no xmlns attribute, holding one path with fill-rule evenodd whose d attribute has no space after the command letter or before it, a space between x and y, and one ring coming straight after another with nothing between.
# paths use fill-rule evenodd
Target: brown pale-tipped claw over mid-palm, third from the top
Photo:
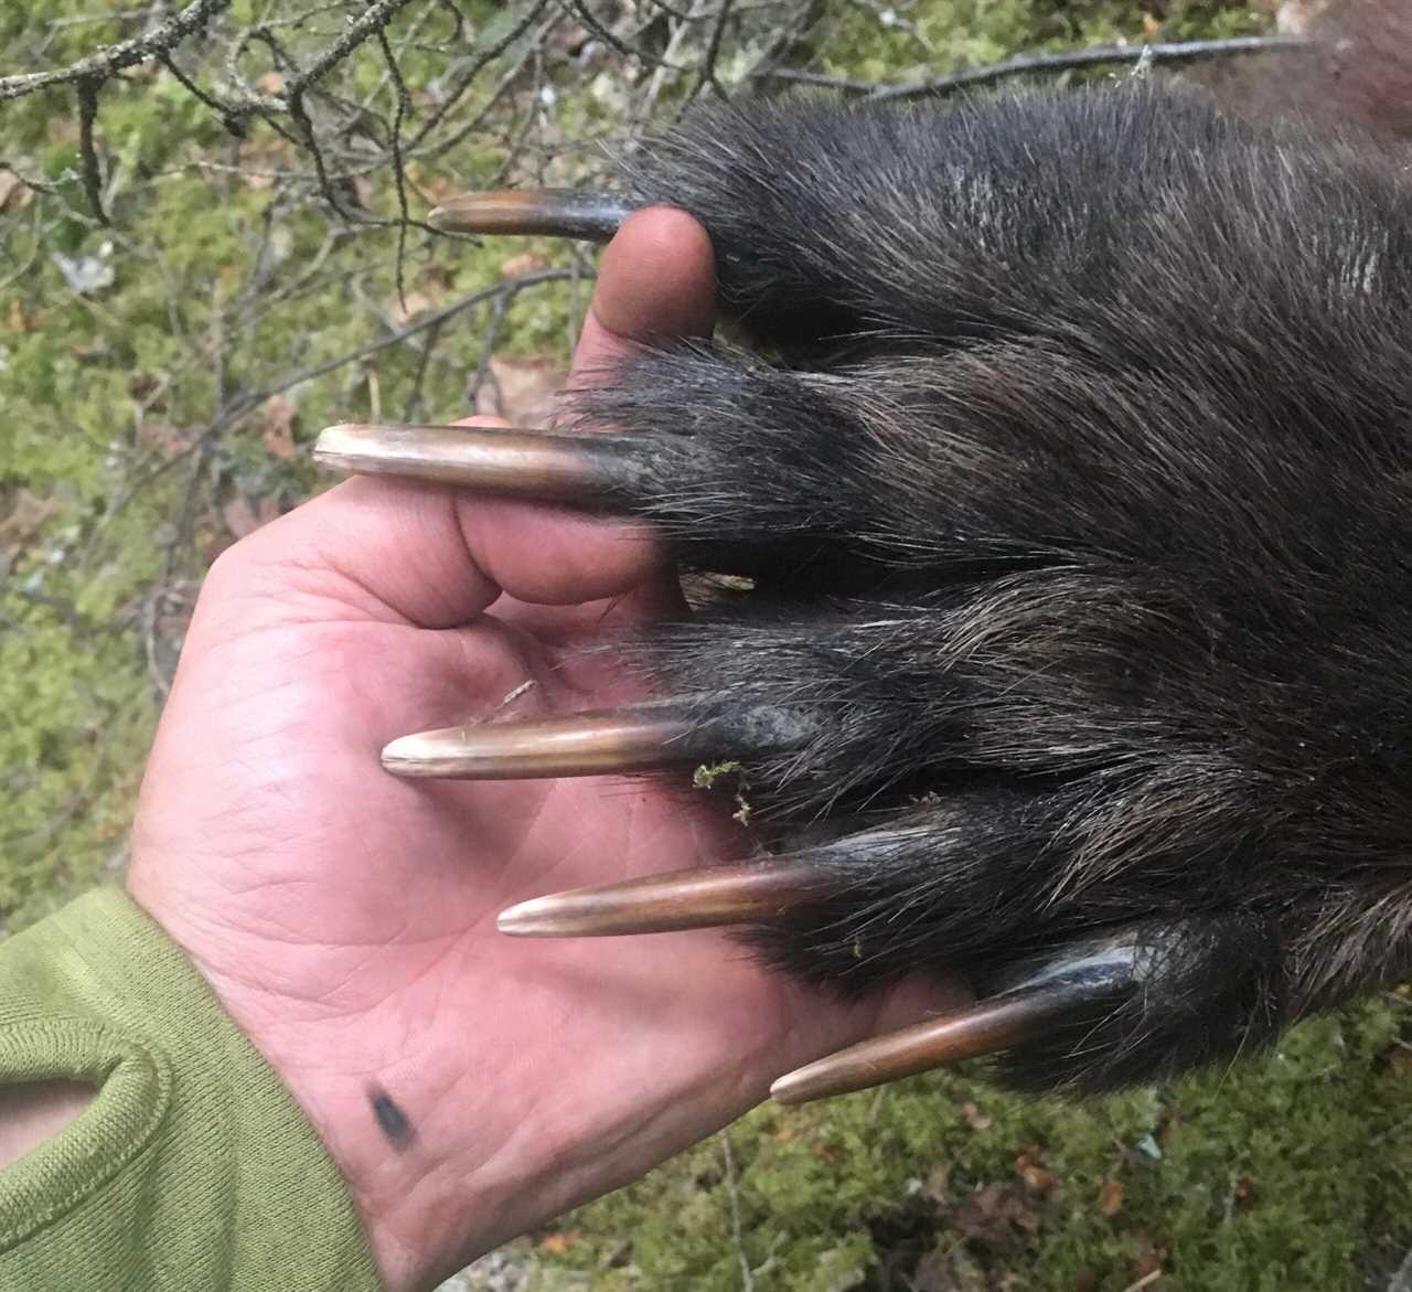
<instances>
[{"instance_id":1,"label":"brown pale-tipped claw over mid-palm, third from the top","mask_svg":"<svg viewBox=\"0 0 1412 1292\"><path fill-rule=\"evenodd\" d=\"M645 703L402 736L383 750L383 767L467 781L597 777L777 753L812 730L808 717L765 705L699 719L683 703Z\"/></svg>"}]
</instances>

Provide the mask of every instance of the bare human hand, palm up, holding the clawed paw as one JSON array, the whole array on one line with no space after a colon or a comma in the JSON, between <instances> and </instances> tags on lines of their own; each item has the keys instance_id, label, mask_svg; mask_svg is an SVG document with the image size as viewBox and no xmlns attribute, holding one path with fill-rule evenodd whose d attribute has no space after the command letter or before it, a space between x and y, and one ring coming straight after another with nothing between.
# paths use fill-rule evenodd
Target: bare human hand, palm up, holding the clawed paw
<instances>
[{"instance_id":1,"label":"bare human hand, palm up, holding the clawed paw","mask_svg":"<svg viewBox=\"0 0 1412 1292\"><path fill-rule=\"evenodd\" d=\"M582 378L707 333L710 243L641 212L603 257ZM397 779L380 748L496 712L611 705L582 648L679 609L641 528L388 479L215 565L134 826L128 884L265 1055L349 1182L390 1289L642 1175L779 1073L939 1003L842 1007L716 932L520 942L505 907L720 861L713 803L613 778ZM525 682L532 682L524 688ZM385 1091L409 1134L380 1128Z\"/></svg>"}]
</instances>

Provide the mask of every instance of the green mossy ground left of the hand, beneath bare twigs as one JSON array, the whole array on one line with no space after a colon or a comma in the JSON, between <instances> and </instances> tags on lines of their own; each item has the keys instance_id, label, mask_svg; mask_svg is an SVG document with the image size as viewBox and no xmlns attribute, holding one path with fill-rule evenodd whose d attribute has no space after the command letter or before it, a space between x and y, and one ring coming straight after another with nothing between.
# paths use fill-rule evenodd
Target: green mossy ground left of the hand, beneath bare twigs
<instances>
[{"instance_id":1,"label":"green mossy ground left of the hand, beneath bare twigs","mask_svg":"<svg viewBox=\"0 0 1412 1292\"><path fill-rule=\"evenodd\" d=\"M476 21L491 8L472 4L466 14ZM59 0L45 18L86 11ZM20 59L28 27L17 28L14 17L0 23ZM121 34L117 23L65 27L42 61L61 64ZM4 113L6 158L58 189L24 219L0 217L7 270L27 265L0 289L0 572L11 510L27 498L47 504L42 525L24 535L0 582L0 919L18 926L121 864L157 712L143 631L155 580L164 570L178 585L199 578L201 534L222 531L223 501L294 506L318 483L306 463L271 456L258 407L210 433L215 409L376 339L381 325L369 305L388 313L395 305L397 234L336 230L311 202L271 212L274 192L229 167L254 158L278 168L274 131L253 126L237 152L220 123L165 73L110 82L102 96L114 232L65 210L88 209L72 93L16 100ZM467 145L441 169L424 167L422 178L489 174L494 160L473 151ZM391 209L390 193L373 201ZM270 213L274 237L265 237ZM330 232L339 241L328 268L291 292ZM493 284L508 247L414 237L408 288L435 306ZM56 253L104 260L112 285L73 295ZM568 261L563 247L555 258ZM565 299L531 302L527 294L508 311L504 335L542 349L558 329L563 349ZM441 361L425 376L428 411L462 411L486 318L470 312L449 329ZM373 412L374 390L395 415L415 378L417 356L388 350L294 387L285 397L298 409L297 441ZM182 537L188 500L198 503L192 532L168 554Z\"/></svg>"}]
</instances>

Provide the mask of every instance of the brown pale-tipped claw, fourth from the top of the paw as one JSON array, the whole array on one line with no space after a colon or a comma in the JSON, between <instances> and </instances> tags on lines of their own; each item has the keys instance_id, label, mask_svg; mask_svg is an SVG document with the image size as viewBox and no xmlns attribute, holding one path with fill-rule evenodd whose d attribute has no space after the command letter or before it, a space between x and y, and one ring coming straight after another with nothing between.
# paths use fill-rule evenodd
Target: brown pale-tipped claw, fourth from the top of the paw
<instances>
[{"instance_id":1,"label":"brown pale-tipped claw, fourth from the top of the paw","mask_svg":"<svg viewBox=\"0 0 1412 1292\"><path fill-rule=\"evenodd\" d=\"M794 861L712 866L537 897L501 911L513 938L606 938L713 929L785 915L829 891Z\"/></svg>"}]
</instances>

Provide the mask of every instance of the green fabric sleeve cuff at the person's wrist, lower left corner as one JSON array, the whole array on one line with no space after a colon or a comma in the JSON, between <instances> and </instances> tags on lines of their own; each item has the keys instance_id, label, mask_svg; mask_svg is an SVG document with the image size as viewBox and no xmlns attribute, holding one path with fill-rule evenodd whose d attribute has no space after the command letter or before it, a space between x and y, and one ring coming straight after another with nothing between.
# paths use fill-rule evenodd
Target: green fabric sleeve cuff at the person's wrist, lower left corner
<instances>
[{"instance_id":1,"label":"green fabric sleeve cuff at the person's wrist, lower left corner","mask_svg":"<svg viewBox=\"0 0 1412 1292\"><path fill-rule=\"evenodd\" d=\"M337 1168L186 956L121 891L0 943L0 1084L95 1099L0 1171L0 1288L376 1292Z\"/></svg>"}]
</instances>

